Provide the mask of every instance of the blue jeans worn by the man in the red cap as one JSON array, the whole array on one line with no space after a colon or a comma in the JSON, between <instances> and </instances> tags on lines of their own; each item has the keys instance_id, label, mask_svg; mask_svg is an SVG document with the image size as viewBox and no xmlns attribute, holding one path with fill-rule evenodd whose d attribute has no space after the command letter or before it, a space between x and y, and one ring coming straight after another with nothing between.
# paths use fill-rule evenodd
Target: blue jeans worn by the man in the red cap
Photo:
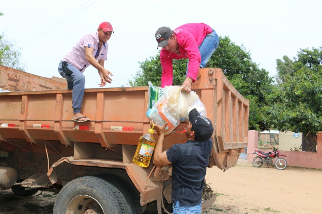
<instances>
[{"instance_id":1,"label":"blue jeans worn by the man in the red cap","mask_svg":"<svg viewBox=\"0 0 322 214\"><path fill-rule=\"evenodd\" d=\"M85 91L85 76L69 62L61 61L58 72L67 80L67 89L73 90L72 103L74 113L81 112L81 103Z\"/></svg>"}]
</instances>

